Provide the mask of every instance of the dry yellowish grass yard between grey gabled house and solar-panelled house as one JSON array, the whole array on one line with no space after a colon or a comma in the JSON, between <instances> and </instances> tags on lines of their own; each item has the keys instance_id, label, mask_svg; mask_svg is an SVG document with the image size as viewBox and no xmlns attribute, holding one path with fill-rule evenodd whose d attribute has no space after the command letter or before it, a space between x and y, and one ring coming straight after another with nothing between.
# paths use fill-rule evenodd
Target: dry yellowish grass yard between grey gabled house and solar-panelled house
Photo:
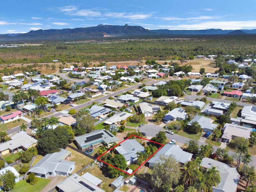
<instances>
[{"instance_id":1,"label":"dry yellowish grass yard between grey gabled house and solar-panelled house","mask_svg":"<svg viewBox=\"0 0 256 192\"><path fill-rule=\"evenodd\" d=\"M73 150L69 147L66 147L66 150L71 151L71 153L72 153L72 157L69 161L76 162L75 169L73 170L72 173L75 173L75 172L79 171L80 169L83 168L83 165L87 165L87 164L89 164L93 161L91 158L89 158L87 156L84 156L83 154L78 153L78 152L76 152L75 150Z\"/></svg>"}]
</instances>

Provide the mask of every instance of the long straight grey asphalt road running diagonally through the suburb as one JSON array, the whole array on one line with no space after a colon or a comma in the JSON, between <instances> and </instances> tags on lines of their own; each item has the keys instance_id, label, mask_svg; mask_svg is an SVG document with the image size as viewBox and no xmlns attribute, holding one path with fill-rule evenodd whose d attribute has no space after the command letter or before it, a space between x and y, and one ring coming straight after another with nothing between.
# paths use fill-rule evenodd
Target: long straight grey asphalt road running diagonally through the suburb
<instances>
[{"instance_id":1,"label":"long straight grey asphalt road running diagonally through the suburb","mask_svg":"<svg viewBox=\"0 0 256 192\"><path fill-rule=\"evenodd\" d=\"M160 82L160 81L163 81L163 80L149 81L149 82L146 82L145 84L152 84L152 83L157 83L157 82ZM109 97L113 97L113 96L115 96L115 95L118 95L118 94L122 93L123 91L129 91L129 90L131 90L131 89L137 88L137 87L139 87L141 84L142 84L142 83L136 84L136 85L130 86L130 87L128 87L128 88L125 88L125 89L116 91L116 92L114 92L114 93L111 93L111 94L109 94L109 95L100 97L100 98L98 98L98 99L94 99L94 100L91 100L91 101L89 101L89 102L82 103L82 104L77 105L77 106L75 106L75 107L69 108L69 110L70 110L70 109L75 109L75 110L77 110L77 109L81 109L81 108L87 107L88 105L91 105L93 102L100 102L100 101L102 101L102 100L108 99ZM47 116L47 118L50 118L51 116L58 117L58 116L61 116L61 115L62 115L62 113L58 112L58 113L54 113L54 114L52 114L52 115ZM28 127L31 126L30 123L27 123L27 125L28 125ZM17 126L17 127L14 127L14 128L12 128L12 129L7 130L6 132L10 135L10 134L12 134L12 133L19 132L19 131L20 131L20 126Z\"/></svg>"}]
</instances>

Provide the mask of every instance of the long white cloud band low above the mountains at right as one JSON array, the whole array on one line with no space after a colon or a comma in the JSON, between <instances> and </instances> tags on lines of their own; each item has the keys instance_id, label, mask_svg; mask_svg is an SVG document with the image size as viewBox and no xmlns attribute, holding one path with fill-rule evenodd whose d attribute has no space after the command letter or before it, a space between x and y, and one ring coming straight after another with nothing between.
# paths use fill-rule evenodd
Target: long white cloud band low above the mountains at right
<instances>
[{"instance_id":1,"label":"long white cloud band low above the mountains at right","mask_svg":"<svg viewBox=\"0 0 256 192\"><path fill-rule=\"evenodd\" d=\"M256 20L249 21L209 21L201 22L197 24L182 24L182 25L160 25L158 28L167 28L167 29L244 29L244 28L256 28Z\"/></svg>"}]
</instances>

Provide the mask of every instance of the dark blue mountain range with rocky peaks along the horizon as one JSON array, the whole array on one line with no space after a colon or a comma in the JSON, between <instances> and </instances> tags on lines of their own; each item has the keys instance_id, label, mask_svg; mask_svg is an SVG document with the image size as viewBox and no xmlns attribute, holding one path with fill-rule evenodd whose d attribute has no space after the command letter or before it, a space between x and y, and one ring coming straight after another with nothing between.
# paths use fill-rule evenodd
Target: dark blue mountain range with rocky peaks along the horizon
<instances>
[{"instance_id":1,"label":"dark blue mountain range with rocky peaks along the horizon","mask_svg":"<svg viewBox=\"0 0 256 192\"><path fill-rule=\"evenodd\" d=\"M60 39L85 39L100 37L118 37L118 36L154 36L154 35L239 35L256 34L256 29L241 30L222 30L222 29L204 29L204 30L169 30L155 29L148 30L141 26L129 25L98 25L86 28L67 28L67 29L39 29L22 34L0 34L0 41L16 40L60 40Z\"/></svg>"}]
</instances>

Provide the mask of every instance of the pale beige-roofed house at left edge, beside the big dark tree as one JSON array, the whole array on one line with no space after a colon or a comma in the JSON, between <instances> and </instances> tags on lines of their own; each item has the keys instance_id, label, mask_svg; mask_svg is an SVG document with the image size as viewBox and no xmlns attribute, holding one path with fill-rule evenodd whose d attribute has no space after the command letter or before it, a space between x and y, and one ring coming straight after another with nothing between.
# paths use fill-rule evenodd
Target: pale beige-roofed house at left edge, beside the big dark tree
<instances>
[{"instance_id":1,"label":"pale beige-roofed house at left edge, beside the big dark tree","mask_svg":"<svg viewBox=\"0 0 256 192\"><path fill-rule=\"evenodd\" d=\"M18 132L11 137L11 140L0 144L0 153L5 155L12 153L15 150L27 150L36 146L37 140L29 136L26 132Z\"/></svg>"}]
</instances>

